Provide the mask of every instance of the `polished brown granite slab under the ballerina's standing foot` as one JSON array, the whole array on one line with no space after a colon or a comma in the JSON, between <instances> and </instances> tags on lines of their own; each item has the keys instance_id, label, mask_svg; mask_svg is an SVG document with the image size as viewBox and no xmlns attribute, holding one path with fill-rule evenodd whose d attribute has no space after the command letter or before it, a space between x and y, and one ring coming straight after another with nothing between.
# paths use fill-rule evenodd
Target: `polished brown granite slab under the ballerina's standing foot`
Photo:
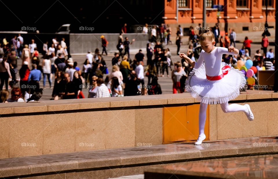
<instances>
[{"instance_id":1,"label":"polished brown granite slab under the ballerina's standing foot","mask_svg":"<svg viewBox=\"0 0 278 179\"><path fill-rule=\"evenodd\" d=\"M176 163L177 160L185 162L188 159L203 160L205 157L215 159L242 156L240 154L250 156L270 153L278 153L277 136L215 140L204 142L200 146L190 142L47 154L0 159L0 177L116 167L109 169L111 171L121 170L123 166L130 164L142 164L147 167L154 164L153 162L163 164L166 161ZM132 171L130 173L132 174Z\"/></svg>"}]
</instances>

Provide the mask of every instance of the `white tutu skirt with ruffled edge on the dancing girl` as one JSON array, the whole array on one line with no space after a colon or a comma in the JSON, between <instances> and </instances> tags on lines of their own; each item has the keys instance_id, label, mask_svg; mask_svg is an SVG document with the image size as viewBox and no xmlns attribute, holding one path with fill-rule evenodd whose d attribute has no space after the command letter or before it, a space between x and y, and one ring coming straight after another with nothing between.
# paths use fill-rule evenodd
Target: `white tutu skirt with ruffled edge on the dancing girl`
<instances>
[{"instance_id":1,"label":"white tutu skirt with ruffled edge on the dancing girl","mask_svg":"<svg viewBox=\"0 0 278 179\"><path fill-rule=\"evenodd\" d=\"M231 64L222 62L222 67ZM221 67L221 68L222 68ZM192 97L205 104L221 104L235 99L239 90L246 84L244 73L231 66L228 74L220 80L206 78L204 63L198 69L193 68L185 82L185 89Z\"/></svg>"}]
</instances>

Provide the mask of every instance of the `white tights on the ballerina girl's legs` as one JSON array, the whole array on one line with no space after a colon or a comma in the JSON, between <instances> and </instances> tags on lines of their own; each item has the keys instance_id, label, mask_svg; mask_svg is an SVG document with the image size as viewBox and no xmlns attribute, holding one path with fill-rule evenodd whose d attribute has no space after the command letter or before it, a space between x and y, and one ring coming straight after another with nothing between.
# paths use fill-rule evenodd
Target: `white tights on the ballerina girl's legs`
<instances>
[{"instance_id":1,"label":"white tights on the ballerina girl's legs","mask_svg":"<svg viewBox=\"0 0 278 179\"><path fill-rule=\"evenodd\" d=\"M208 104L200 103L200 110L199 110L199 135L204 135L204 128L206 122L206 108ZM221 109L224 113L231 113L237 111L243 111L245 113L248 112L248 108L244 105L240 104L228 104L228 102L220 104Z\"/></svg>"}]
</instances>

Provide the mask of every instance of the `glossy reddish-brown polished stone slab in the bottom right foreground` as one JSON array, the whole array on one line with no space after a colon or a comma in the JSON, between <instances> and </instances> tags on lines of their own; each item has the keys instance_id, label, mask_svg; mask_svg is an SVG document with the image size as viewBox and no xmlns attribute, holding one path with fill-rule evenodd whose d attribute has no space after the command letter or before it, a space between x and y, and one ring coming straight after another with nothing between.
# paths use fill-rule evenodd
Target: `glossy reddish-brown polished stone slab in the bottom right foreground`
<instances>
[{"instance_id":1,"label":"glossy reddish-brown polished stone slab in the bottom right foreground","mask_svg":"<svg viewBox=\"0 0 278 179\"><path fill-rule=\"evenodd\" d=\"M207 178L278 178L278 155L254 157L242 160L214 160L180 165L152 167L145 171L145 179L154 176L164 179L186 178L187 176Z\"/></svg>"}]
</instances>

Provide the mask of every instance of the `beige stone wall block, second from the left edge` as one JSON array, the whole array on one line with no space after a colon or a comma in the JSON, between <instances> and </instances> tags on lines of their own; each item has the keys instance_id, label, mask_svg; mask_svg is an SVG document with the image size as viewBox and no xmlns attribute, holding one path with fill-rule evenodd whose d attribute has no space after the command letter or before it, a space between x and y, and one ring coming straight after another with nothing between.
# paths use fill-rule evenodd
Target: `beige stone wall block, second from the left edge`
<instances>
[{"instance_id":1,"label":"beige stone wall block, second from the left edge","mask_svg":"<svg viewBox=\"0 0 278 179\"><path fill-rule=\"evenodd\" d=\"M43 154L43 119L40 116L9 117L10 156Z\"/></svg>"}]
</instances>

